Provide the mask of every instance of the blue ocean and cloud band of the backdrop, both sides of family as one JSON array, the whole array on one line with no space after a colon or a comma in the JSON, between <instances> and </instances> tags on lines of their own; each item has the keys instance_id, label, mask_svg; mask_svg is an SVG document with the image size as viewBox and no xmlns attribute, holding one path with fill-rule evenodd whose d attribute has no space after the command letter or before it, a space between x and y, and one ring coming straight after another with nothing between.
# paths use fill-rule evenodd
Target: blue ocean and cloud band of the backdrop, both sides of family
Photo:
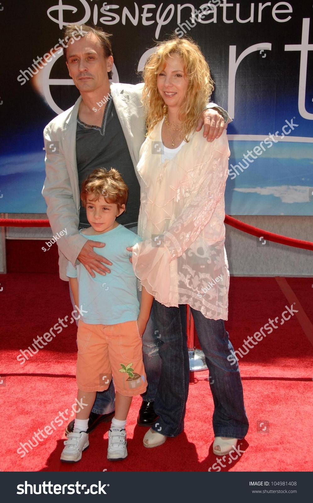
<instances>
[{"instance_id":1,"label":"blue ocean and cloud band of the backdrop, both sides of family","mask_svg":"<svg viewBox=\"0 0 313 503\"><path fill-rule=\"evenodd\" d=\"M258 141L229 141L229 168ZM0 213L46 213L41 195L44 151L0 157ZM242 162L245 166L246 164ZM279 142L268 148L225 191L228 215L313 215L313 143ZM312 198L313 199L313 198Z\"/></svg>"}]
</instances>

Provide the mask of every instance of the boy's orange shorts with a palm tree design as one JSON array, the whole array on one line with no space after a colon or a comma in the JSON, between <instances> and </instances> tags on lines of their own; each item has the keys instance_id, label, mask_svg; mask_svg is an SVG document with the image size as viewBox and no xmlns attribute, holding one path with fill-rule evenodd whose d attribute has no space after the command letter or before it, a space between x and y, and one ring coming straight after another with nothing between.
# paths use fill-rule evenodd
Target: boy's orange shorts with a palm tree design
<instances>
[{"instance_id":1,"label":"boy's orange shorts with a palm tree design","mask_svg":"<svg viewBox=\"0 0 313 503\"><path fill-rule=\"evenodd\" d=\"M77 347L76 381L82 391L108 389L112 375L121 395L135 396L146 390L137 321L92 325L80 319Z\"/></svg>"}]
</instances>

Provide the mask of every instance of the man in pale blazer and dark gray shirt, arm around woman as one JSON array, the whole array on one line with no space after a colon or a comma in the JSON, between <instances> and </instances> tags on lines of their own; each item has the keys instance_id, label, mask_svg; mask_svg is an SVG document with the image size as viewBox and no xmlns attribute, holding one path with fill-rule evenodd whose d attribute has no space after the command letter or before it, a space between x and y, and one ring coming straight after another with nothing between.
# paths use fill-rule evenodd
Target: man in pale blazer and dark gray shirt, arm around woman
<instances>
[{"instance_id":1,"label":"man in pale blazer and dark gray shirt, arm around woman","mask_svg":"<svg viewBox=\"0 0 313 503\"><path fill-rule=\"evenodd\" d=\"M74 266L79 261L95 277L95 272L105 276L110 273L111 262L96 254L94 247L104 243L88 240L78 229L89 226L86 210L81 207L82 181L96 167L116 168L129 188L127 213L119 223L136 232L140 206L140 190L134 166L144 141L145 119L141 106L142 84L110 85L113 66L109 35L101 29L83 25L68 25L64 32L69 39L64 56L70 77L81 97L75 105L53 119L44 130L46 146L46 180L42 194L47 203L47 215L53 234L66 228L67 235L58 241L60 278L66 277L67 261ZM208 141L219 137L228 115L213 103L207 105L204 136ZM203 125L200 119L198 130ZM53 148L52 148L53 147ZM56 147L56 148L54 148ZM53 153L54 151L54 153ZM104 278L105 280L105 278ZM105 284L105 281L104 281ZM72 296L71 296L72 297ZM143 361L148 388L138 415L140 426L151 426L156 418L153 401L158 388L161 359L158 354L158 337L150 319L142 337ZM102 421L110 421L114 413L114 388L111 383L105 392L97 393L90 414L91 432ZM72 431L73 421L67 426Z\"/></svg>"}]
</instances>

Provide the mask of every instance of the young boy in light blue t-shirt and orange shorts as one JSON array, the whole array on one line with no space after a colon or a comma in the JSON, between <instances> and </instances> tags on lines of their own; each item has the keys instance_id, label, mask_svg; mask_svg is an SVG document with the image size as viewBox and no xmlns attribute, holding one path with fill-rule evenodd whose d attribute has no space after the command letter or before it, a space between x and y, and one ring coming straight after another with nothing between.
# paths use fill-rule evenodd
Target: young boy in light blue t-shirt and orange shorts
<instances>
[{"instance_id":1,"label":"young boy in light blue t-shirt and orange shorts","mask_svg":"<svg viewBox=\"0 0 313 503\"><path fill-rule=\"evenodd\" d=\"M80 233L86 239L105 242L104 248L95 251L105 254L112 266L110 274L104 277L95 273L95 278L82 264L74 268L69 262L66 270L75 304L83 305L87 313L84 321L79 320L77 330L77 400L82 400L84 408L76 413L74 430L64 442L61 461L65 462L79 461L89 446L86 432L96 391L109 387L112 374L115 416L109 430L107 458L126 458L125 426L131 400L147 387L141 337L153 297L142 289L139 310L136 277L126 247L141 239L116 222L125 211L127 196L128 188L114 169L97 169L82 184L81 200L91 227Z\"/></svg>"}]
</instances>

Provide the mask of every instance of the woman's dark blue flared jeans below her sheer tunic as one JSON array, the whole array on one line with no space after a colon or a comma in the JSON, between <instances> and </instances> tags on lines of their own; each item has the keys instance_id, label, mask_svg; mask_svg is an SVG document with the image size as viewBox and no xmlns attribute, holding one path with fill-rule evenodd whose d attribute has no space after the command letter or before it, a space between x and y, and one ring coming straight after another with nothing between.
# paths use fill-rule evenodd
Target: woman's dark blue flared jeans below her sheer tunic
<instances>
[{"instance_id":1,"label":"woman's dark blue flared jeans below her sheer tunic","mask_svg":"<svg viewBox=\"0 0 313 503\"><path fill-rule=\"evenodd\" d=\"M154 401L154 411L160 417L152 430L166 437L176 437L184 430L189 387L186 306L166 307L154 300L152 312L161 334L159 355L162 360ZM214 436L242 439L248 432L249 423L238 363L230 365L227 360L233 347L224 322L208 319L193 308L191 312L210 371Z\"/></svg>"}]
</instances>

